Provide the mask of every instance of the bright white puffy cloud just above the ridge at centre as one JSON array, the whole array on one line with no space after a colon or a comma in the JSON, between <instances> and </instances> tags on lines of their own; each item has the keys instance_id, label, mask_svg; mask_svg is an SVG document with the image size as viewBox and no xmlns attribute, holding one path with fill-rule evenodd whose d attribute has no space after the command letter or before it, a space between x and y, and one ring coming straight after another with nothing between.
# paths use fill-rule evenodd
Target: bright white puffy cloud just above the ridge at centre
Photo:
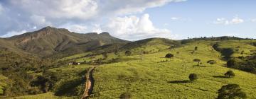
<instances>
[{"instance_id":1,"label":"bright white puffy cloud just above the ridge at centre","mask_svg":"<svg viewBox=\"0 0 256 99\"><path fill-rule=\"evenodd\" d=\"M144 14L141 18L137 16L125 16L112 18L107 23L105 30L110 30L112 35L125 40L139 40L149 37L166 37L174 39L171 30L155 28L149 19L149 14Z\"/></svg>"}]
</instances>

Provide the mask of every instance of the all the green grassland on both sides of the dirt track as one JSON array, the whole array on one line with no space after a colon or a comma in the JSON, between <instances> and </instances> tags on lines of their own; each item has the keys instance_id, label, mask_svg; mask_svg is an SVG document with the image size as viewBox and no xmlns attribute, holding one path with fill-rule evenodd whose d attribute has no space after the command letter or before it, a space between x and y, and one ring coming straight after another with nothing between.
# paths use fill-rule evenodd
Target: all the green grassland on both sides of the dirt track
<instances>
[{"instance_id":1,"label":"all the green grassland on both sides of the dirt track","mask_svg":"<svg viewBox=\"0 0 256 99\"><path fill-rule=\"evenodd\" d=\"M156 43L152 43L156 42ZM231 49L230 57L246 57L256 51L250 40L227 40L218 42L218 48ZM134 47L132 55L127 57L125 50L118 54L108 53L107 59L117 59L112 64L102 64L95 68L95 85L90 98L119 98L122 93L130 93L132 98L217 98L218 89L228 83L237 83L247 94L247 98L256 98L256 75L237 69L226 68L223 54L212 46L216 41L195 41L181 47L169 49L169 45L157 45L159 41ZM198 47L198 50L194 50ZM149 54L141 54L142 52ZM241 54L241 52L243 53ZM171 59L167 53L174 54ZM76 62L90 61L84 57L90 52L75 54L65 59ZM101 59L102 54L94 57ZM193 59L201 59L198 66ZM216 64L208 64L215 60ZM82 92L83 76L92 65L69 65L50 69L48 72L58 76L54 93L26 95L17 98L79 98ZM225 72L232 70L235 77L226 78ZM197 81L189 81L189 74L198 74Z\"/></svg>"}]
</instances>

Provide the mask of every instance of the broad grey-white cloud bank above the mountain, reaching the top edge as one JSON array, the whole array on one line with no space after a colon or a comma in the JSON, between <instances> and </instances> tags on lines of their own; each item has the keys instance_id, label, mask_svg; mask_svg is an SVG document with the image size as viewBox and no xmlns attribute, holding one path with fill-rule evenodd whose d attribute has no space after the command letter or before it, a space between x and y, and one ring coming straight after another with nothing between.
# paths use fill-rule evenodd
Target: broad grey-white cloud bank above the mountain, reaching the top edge
<instances>
[{"instance_id":1,"label":"broad grey-white cloud bank above the mountain, reaching the top edge","mask_svg":"<svg viewBox=\"0 0 256 99\"><path fill-rule=\"evenodd\" d=\"M74 32L100 32L108 19L142 13L146 8L163 6L170 2L186 0L1 0L1 35L10 31L34 30L47 25L66 27ZM2 6L2 7L1 7ZM82 24L82 25L81 25ZM92 31L89 31L92 30Z\"/></svg>"}]
</instances>

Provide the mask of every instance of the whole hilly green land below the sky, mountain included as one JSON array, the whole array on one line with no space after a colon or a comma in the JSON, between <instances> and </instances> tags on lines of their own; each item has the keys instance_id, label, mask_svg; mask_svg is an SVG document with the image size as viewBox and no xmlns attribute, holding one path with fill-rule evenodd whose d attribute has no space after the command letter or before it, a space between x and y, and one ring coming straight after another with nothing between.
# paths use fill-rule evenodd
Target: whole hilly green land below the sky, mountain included
<instances>
[{"instance_id":1,"label":"whole hilly green land below the sky, mountain included","mask_svg":"<svg viewBox=\"0 0 256 99\"><path fill-rule=\"evenodd\" d=\"M238 84L247 98L256 98L256 40L209 37L130 42L108 33L81 34L91 39L76 40L80 34L64 30L63 40L53 42L53 35L45 35L59 37L63 29L44 30L3 40L17 46L0 44L0 98L203 99L217 98L218 89L230 83ZM234 77L225 76L230 70ZM190 74L197 74L198 79L191 81ZM18 90L12 94L14 89Z\"/></svg>"}]
</instances>

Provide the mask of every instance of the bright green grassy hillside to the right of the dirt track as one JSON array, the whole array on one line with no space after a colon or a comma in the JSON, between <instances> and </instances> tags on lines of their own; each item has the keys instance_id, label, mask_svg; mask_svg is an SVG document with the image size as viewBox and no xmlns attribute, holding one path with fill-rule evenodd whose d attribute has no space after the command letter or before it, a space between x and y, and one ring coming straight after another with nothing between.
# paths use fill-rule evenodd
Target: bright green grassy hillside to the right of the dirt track
<instances>
[{"instance_id":1,"label":"bright green grassy hillside to the right of the dirt track","mask_svg":"<svg viewBox=\"0 0 256 99\"><path fill-rule=\"evenodd\" d=\"M213 50L210 42L193 42L176 50L164 50L144 54L141 60L130 60L105 64L95 69L95 88L91 98L119 98L122 93L131 93L133 98L216 98L218 89L228 83L237 83L248 98L256 98L256 76L244 71L225 68L219 52ZM198 51L191 54L194 47ZM176 54L179 52L179 54ZM173 53L174 58L163 58ZM135 55L127 58L140 58ZM193 59L201 59L196 66ZM207 64L208 60L217 64ZM234 78L220 77L233 70ZM198 80L187 80L191 73L198 74Z\"/></svg>"}]
</instances>

